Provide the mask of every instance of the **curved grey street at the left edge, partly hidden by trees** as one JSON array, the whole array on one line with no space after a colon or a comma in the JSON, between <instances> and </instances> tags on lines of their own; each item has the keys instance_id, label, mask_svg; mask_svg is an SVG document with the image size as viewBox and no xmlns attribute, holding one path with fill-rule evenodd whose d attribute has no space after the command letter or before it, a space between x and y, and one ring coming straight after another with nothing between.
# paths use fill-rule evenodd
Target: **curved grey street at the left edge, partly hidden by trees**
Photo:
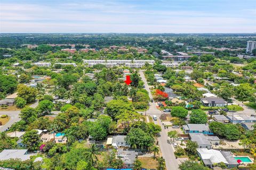
<instances>
[{"instance_id":1,"label":"curved grey street at the left edge, partly hidden by trees","mask_svg":"<svg viewBox=\"0 0 256 170\"><path fill-rule=\"evenodd\" d=\"M37 106L38 106L38 101L30 105L29 107L36 108ZM0 126L0 132L3 132L7 128L10 128L14 122L20 121L19 114L20 114L20 111L0 111L0 115L8 115L10 117L10 120L5 125Z\"/></svg>"}]
</instances>

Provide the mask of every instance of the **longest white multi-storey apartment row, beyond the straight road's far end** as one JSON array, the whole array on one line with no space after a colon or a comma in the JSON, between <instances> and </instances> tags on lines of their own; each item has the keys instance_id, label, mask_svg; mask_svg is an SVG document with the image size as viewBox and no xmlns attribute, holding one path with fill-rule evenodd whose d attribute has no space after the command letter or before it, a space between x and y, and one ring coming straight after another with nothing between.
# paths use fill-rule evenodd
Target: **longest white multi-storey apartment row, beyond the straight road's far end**
<instances>
[{"instance_id":1,"label":"longest white multi-storey apartment row, beyond the straight road's far end","mask_svg":"<svg viewBox=\"0 0 256 170\"><path fill-rule=\"evenodd\" d=\"M124 65L131 68L141 68L146 63L153 65L155 61L154 60L84 60L84 64L86 64L89 67L95 64L103 64L103 65L106 65L106 67Z\"/></svg>"}]
</instances>

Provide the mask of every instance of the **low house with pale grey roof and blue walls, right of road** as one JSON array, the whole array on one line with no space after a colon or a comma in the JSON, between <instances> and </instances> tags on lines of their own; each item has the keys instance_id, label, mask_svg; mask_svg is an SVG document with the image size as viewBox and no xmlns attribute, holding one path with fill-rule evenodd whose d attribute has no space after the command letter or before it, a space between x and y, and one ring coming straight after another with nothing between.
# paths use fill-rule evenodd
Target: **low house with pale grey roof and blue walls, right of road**
<instances>
[{"instance_id":1,"label":"low house with pale grey roof and blue walls, right of road","mask_svg":"<svg viewBox=\"0 0 256 170\"><path fill-rule=\"evenodd\" d=\"M203 134L213 134L208 124L186 124L182 126L183 131L187 133L203 133Z\"/></svg>"}]
</instances>

